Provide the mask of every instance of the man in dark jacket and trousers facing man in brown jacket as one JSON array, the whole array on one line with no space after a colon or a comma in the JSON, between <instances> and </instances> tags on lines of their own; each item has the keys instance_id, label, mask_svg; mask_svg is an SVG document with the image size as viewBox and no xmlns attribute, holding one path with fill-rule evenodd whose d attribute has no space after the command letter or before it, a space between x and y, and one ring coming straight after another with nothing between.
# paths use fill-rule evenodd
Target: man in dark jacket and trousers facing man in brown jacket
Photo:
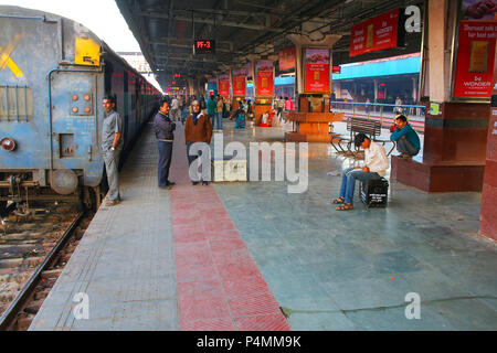
<instances>
[{"instance_id":1,"label":"man in dark jacket and trousers facing man in brown jacket","mask_svg":"<svg viewBox=\"0 0 497 353\"><path fill-rule=\"evenodd\" d=\"M169 100L162 98L160 108L154 117L157 147L159 148L158 179L160 189L171 189L175 183L168 180L171 167L172 142L175 140L176 124L169 117Z\"/></svg>"}]
</instances>

